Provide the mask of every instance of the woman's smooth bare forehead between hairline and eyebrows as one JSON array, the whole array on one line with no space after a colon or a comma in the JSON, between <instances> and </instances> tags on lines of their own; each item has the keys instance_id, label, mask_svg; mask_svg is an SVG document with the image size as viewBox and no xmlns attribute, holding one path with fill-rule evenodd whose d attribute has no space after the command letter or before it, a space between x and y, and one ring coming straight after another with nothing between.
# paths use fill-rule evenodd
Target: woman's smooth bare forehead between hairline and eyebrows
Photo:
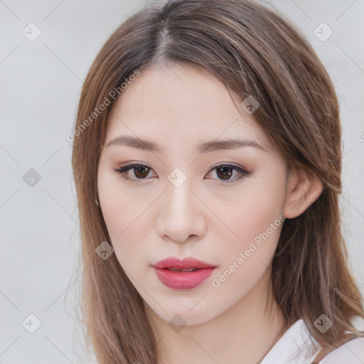
<instances>
[{"instance_id":1,"label":"woman's smooth bare forehead between hairline and eyebrows","mask_svg":"<svg viewBox=\"0 0 364 364\"><path fill-rule=\"evenodd\" d=\"M202 68L152 65L140 71L114 102L107 141L119 134L173 137L201 142L250 138L267 145L251 115L240 109L224 85Z\"/></svg>"}]
</instances>

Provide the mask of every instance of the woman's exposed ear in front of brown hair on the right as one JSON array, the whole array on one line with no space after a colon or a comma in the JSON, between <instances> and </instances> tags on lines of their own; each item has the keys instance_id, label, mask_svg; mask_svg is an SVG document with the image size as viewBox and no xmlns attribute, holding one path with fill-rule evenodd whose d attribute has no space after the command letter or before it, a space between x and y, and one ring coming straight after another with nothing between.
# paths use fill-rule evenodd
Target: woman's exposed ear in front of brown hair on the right
<instances>
[{"instance_id":1,"label":"woman's exposed ear in front of brown hair on the right","mask_svg":"<svg viewBox=\"0 0 364 364\"><path fill-rule=\"evenodd\" d=\"M323 183L317 176L309 176L303 169L289 171L283 215L296 218L314 203L323 191Z\"/></svg>"}]
</instances>

